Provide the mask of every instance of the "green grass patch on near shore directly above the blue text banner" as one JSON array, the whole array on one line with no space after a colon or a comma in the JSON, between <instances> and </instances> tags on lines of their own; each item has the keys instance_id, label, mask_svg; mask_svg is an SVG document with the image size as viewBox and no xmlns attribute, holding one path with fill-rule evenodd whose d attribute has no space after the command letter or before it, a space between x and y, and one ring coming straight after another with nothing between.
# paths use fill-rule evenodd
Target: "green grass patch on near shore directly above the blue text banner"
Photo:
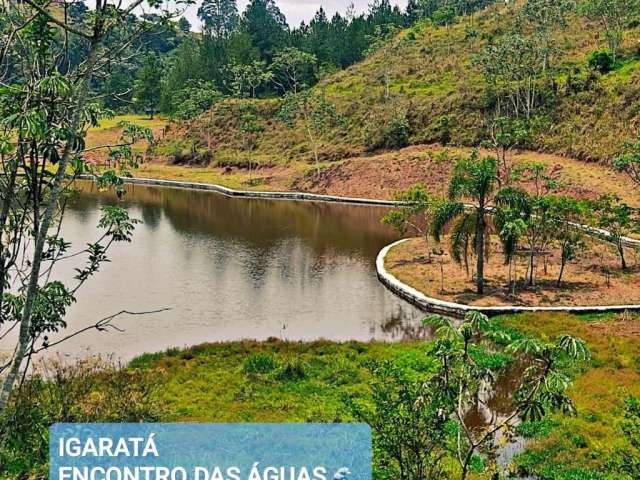
<instances>
[{"instance_id":1,"label":"green grass patch on near shore directly above the blue text banner","mask_svg":"<svg viewBox=\"0 0 640 480\"><path fill-rule=\"evenodd\" d=\"M260 356L263 360L257 360ZM271 360L265 361L265 356ZM343 395L367 396L370 377L364 363L383 359L421 376L434 366L420 342L275 340L145 355L131 366L161 375L162 388L156 394L166 421L333 422L351 419ZM256 368L256 363L262 367ZM288 376L285 372L296 364L303 375Z\"/></svg>"}]
</instances>

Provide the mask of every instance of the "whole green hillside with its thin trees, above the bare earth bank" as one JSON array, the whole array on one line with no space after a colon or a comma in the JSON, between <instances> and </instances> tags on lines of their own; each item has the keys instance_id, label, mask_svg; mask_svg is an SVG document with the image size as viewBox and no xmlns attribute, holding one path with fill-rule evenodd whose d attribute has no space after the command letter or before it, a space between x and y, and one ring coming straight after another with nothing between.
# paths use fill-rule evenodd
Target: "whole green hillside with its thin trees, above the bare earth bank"
<instances>
[{"instance_id":1,"label":"whole green hillside with its thin trees, above the bare earth bank","mask_svg":"<svg viewBox=\"0 0 640 480\"><path fill-rule=\"evenodd\" d=\"M549 27L548 47L541 47L535 20L522 13L525 3L491 6L446 25L418 21L362 62L323 79L314 92L346 122L327 128L322 159L408 144L478 146L500 133L499 105L500 115L514 122L510 128L525 131L514 142L518 148L584 160L611 160L621 153L639 119L640 34L633 17L622 19L616 60L602 67L593 56L611 60L602 51L608 33L593 16L573 7L563 12L562 22ZM544 59L536 57L541 49L548 50ZM515 73L506 71L503 64L509 62ZM532 92L523 91L529 82ZM518 100L514 95L527 92L533 97L530 111L507 111L505 105ZM223 100L178 128L169 142L187 150L211 149L221 162L310 160L303 126L287 129L279 119L282 103ZM246 108L263 127L250 151L242 148L239 127Z\"/></svg>"}]
</instances>

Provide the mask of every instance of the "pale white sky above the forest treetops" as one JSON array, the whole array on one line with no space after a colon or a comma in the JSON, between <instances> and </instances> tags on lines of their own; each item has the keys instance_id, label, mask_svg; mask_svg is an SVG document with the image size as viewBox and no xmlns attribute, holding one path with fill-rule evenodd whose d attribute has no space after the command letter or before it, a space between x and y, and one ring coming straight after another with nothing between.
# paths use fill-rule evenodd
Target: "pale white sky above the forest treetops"
<instances>
[{"instance_id":1,"label":"pale white sky above the forest treetops","mask_svg":"<svg viewBox=\"0 0 640 480\"><path fill-rule=\"evenodd\" d=\"M344 13L351 3L354 4L356 12L366 11L371 0L276 0L276 4L287 17L290 26L296 27L300 22L308 22L316 11L322 6L329 18L335 13ZM199 0L196 3L200 3ZM238 9L244 10L249 0L238 0ZM392 4L399 5L403 9L407 6L407 0L391 0ZM191 22L195 30L200 30L200 25L196 12L197 6L190 7L186 17Z\"/></svg>"}]
</instances>

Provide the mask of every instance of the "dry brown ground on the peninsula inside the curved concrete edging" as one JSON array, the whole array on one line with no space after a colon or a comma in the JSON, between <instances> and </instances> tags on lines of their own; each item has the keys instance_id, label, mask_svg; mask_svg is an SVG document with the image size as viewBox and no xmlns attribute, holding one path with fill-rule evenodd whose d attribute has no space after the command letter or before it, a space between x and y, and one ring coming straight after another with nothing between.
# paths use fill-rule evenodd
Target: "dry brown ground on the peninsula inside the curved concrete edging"
<instances>
[{"instance_id":1,"label":"dry brown ground on the peninsula inside the curved concrete edging","mask_svg":"<svg viewBox=\"0 0 640 480\"><path fill-rule=\"evenodd\" d=\"M445 239L446 242L446 239ZM559 253L549 251L546 260L539 259L537 280L529 286L526 254L516 265L515 295L508 290L508 269L500 247L493 242L485 265L485 295L475 293L474 261L469 271L455 263L446 244L431 245L438 254L429 255L424 239L411 239L389 251L385 267L400 281L425 295L446 301L477 306L578 306L640 304L640 263L634 255L627 271L621 271L613 247L604 242L587 240L589 249L565 270L560 287L556 285L560 270ZM546 264L546 268L545 268Z\"/></svg>"}]
</instances>

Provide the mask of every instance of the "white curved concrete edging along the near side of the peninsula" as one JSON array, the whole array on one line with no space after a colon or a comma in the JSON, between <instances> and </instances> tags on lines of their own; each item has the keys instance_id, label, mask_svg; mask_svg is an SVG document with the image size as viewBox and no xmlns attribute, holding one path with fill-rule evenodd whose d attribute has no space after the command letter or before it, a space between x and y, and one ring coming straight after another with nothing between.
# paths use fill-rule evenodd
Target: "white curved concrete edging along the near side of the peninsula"
<instances>
[{"instance_id":1,"label":"white curved concrete edging along the near side of the peninsula","mask_svg":"<svg viewBox=\"0 0 640 480\"><path fill-rule=\"evenodd\" d=\"M500 307L478 307L464 305L461 303L447 302L437 298L427 297L424 293L409 285L402 283L395 276L387 271L384 266L389 250L396 247L408 239L399 240L384 247L376 259L376 269L378 278L382 284L409 303L415 305L420 310L429 313L439 313L453 317L463 317L470 311L482 312L485 315L495 316L502 314L522 313L522 312L568 312L568 313L608 313L608 312L640 312L640 305L598 305L590 307L521 307L521 306L500 306Z\"/></svg>"}]
</instances>

